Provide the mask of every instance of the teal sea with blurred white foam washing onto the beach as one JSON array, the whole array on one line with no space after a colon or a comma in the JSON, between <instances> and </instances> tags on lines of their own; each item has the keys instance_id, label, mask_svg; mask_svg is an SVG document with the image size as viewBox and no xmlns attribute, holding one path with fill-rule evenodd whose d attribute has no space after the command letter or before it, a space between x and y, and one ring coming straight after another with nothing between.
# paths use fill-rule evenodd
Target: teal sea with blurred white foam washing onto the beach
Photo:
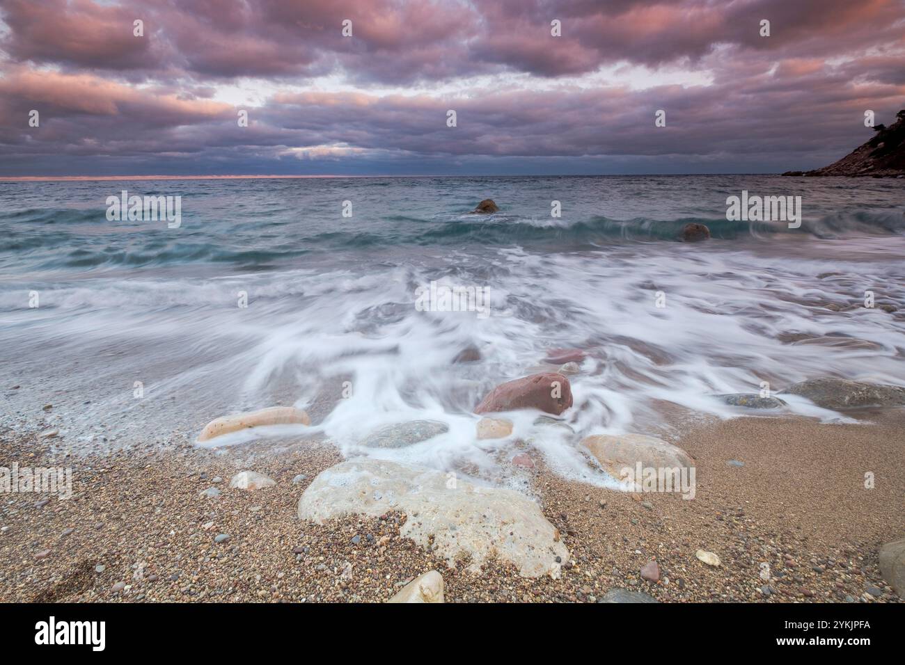
<instances>
[{"instance_id":1,"label":"teal sea with blurred white foam washing onto the beach","mask_svg":"<svg viewBox=\"0 0 905 665\"><path fill-rule=\"evenodd\" d=\"M173 197L178 223L119 214L124 192ZM743 193L800 196L800 223L729 220ZM472 214L487 198L499 212ZM710 240L681 242L687 223ZM492 473L529 442L586 478L588 434L776 415L722 394L818 376L905 385L903 232L901 179L0 182L0 424L101 451L194 442L220 415L294 404L310 427L215 445L317 435L347 456ZM480 359L457 362L465 348ZM563 348L585 354L568 427L517 413L508 439L477 439L481 397L556 369L544 359ZM782 413L851 422L776 396ZM362 445L413 420L448 431Z\"/></svg>"}]
</instances>

